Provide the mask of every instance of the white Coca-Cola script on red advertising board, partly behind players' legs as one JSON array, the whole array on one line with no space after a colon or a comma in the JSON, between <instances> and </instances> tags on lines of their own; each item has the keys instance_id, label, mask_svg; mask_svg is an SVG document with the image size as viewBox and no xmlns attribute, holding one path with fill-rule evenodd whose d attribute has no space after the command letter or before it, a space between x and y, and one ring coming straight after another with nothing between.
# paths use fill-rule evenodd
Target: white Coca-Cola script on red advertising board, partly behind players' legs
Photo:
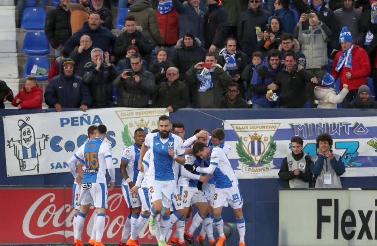
<instances>
[{"instance_id":1,"label":"white Coca-Cola script on red advertising board, partly behind players' legs","mask_svg":"<svg viewBox=\"0 0 377 246\"><path fill-rule=\"evenodd\" d=\"M75 209L72 209L70 204L58 204L56 198L55 193L46 193L30 206L22 222L22 231L26 237L32 239L51 235L62 235L65 238L73 237L72 225ZM128 212L121 208L122 202L123 195L121 193L114 193L109 196L104 237L114 238L114 241L120 239L128 215ZM95 210L92 209L86 217L86 220L88 220L87 235L92 232L94 217ZM146 224L140 232L139 238L144 238L148 234L149 230ZM152 236L149 235L147 238L152 239Z\"/></svg>"}]
</instances>

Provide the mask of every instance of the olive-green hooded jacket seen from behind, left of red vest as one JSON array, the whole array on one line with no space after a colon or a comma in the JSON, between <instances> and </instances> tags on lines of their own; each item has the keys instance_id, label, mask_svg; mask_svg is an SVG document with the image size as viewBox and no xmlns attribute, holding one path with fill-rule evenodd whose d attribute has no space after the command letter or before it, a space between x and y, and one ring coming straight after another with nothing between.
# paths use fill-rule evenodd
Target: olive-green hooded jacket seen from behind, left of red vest
<instances>
[{"instance_id":1,"label":"olive-green hooded jacket seen from behind, left of red vest","mask_svg":"<svg viewBox=\"0 0 377 246\"><path fill-rule=\"evenodd\" d=\"M127 15L135 17L138 25L143 28L143 35L150 39L152 46L162 46L164 39L158 27L156 12L147 0L137 0L133 3Z\"/></svg>"}]
</instances>

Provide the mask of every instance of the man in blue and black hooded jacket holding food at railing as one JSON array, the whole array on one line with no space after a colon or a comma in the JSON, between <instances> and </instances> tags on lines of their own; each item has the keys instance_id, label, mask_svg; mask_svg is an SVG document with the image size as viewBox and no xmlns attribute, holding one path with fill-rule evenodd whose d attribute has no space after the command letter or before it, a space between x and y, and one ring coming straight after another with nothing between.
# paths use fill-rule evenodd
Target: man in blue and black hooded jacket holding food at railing
<instances>
[{"instance_id":1,"label":"man in blue and black hooded jacket holding food at railing","mask_svg":"<svg viewBox=\"0 0 377 246\"><path fill-rule=\"evenodd\" d=\"M279 108L279 101L273 101L267 91L277 91L274 81L280 72L280 57L276 49L270 51L262 65L255 69L250 83L253 108Z\"/></svg>"}]
</instances>

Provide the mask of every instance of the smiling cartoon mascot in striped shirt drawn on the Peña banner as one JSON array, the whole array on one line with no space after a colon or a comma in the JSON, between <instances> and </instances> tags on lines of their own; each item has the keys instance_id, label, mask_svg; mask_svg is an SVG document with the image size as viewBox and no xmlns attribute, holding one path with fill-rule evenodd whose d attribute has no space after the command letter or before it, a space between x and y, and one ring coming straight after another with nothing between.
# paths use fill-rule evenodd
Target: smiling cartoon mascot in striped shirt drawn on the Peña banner
<instances>
[{"instance_id":1,"label":"smiling cartoon mascot in striped shirt drawn on the Pe\u00f1a banner","mask_svg":"<svg viewBox=\"0 0 377 246\"><path fill-rule=\"evenodd\" d=\"M28 125L30 117L26 117L26 121L18 120L18 127L20 128L20 140L7 140L8 148L14 148L14 155L20 163L20 171L30 171L37 168L39 173L39 160L45 143L48 141L48 135L42 134L42 137L35 138L35 132L31 125Z\"/></svg>"}]
</instances>

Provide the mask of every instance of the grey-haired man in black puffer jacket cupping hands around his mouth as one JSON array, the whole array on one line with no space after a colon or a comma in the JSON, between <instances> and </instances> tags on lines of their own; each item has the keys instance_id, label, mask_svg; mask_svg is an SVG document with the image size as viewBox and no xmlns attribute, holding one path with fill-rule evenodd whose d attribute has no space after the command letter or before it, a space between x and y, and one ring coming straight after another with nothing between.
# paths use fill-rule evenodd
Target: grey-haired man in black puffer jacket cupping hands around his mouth
<instances>
[{"instance_id":1,"label":"grey-haired man in black puffer jacket cupping hands around his mouth","mask_svg":"<svg viewBox=\"0 0 377 246\"><path fill-rule=\"evenodd\" d=\"M93 97L92 108L111 108L112 81L118 76L115 65L110 63L110 54L100 48L90 52L92 61L84 67L84 83L90 89Z\"/></svg>"}]
</instances>

